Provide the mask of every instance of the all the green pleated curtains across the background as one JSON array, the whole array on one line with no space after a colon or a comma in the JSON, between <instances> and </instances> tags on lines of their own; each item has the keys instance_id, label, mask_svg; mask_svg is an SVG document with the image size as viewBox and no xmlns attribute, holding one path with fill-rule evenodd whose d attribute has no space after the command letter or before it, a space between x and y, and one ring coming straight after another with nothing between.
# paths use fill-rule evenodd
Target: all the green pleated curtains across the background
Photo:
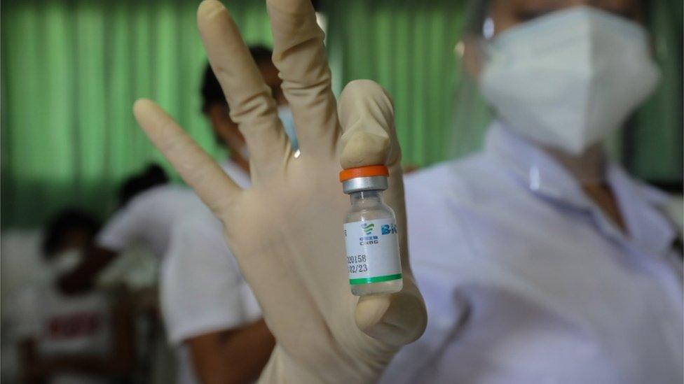
<instances>
[{"instance_id":1,"label":"all the green pleated curtains across the background","mask_svg":"<svg viewBox=\"0 0 684 384\"><path fill-rule=\"evenodd\" d=\"M489 111L454 55L466 1L322 1L334 90L371 78L394 97L404 163L472 152ZM642 178L682 176L682 3L652 1L659 92L618 138ZM66 205L106 215L147 162L168 164L137 128L158 101L219 155L200 113L205 52L188 0L8 0L1 13L2 227L39 225ZM226 1L247 43L271 45L264 1ZM627 149L625 149L625 147Z\"/></svg>"}]
</instances>

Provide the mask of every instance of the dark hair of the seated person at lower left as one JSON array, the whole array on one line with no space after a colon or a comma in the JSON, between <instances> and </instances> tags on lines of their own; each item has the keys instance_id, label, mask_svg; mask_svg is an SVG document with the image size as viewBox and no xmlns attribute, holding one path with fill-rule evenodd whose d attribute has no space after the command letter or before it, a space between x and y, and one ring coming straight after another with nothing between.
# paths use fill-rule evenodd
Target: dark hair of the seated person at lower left
<instances>
[{"instance_id":1,"label":"dark hair of the seated person at lower left","mask_svg":"<svg viewBox=\"0 0 684 384\"><path fill-rule=\"evenodd\" d=\"M45 236L43 236L43 255L54 255L60 248L64 235L74 229L86 231L92 238L100 230L100 222L78 208L65 208L48 220Z\"/></svg>"}]
</instances>

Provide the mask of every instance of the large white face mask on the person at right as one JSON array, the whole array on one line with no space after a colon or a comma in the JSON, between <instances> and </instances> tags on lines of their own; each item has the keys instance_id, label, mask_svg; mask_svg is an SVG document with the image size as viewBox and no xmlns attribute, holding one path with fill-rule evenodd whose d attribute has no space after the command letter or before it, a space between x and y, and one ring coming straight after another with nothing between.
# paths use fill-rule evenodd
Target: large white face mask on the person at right
<instances>
[{"instance_id":1,"label":"large white face mask on the person at right","mask_svg":"<svg viewBox=\"0 0 684 384\"><path fill-rule=\"evenodd\" d=\"M539 17L485 44L480 88L500 118L572 155L620 127L660 77L641 25L586 6Z\"/></svg>"}]
</instances>

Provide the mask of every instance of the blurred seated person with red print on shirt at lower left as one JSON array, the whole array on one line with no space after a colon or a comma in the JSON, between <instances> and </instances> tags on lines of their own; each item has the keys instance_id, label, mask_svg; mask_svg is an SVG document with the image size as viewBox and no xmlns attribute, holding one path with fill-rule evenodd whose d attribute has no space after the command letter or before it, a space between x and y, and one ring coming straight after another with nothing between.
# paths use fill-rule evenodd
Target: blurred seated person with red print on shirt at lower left
<instances>
[{"instance_id":1,"label":"blurred seated person with red print on shirt at lower left","mask_svg":"<svg viewBox=\"0 0 684 384\"><path fill-rule=\"evenodd\" d=\"M27 383L108 383L132 374L135 340L125 299L97 290L67 294L56 284L86 255L98 227L75 210L51 220L43 241L49 276L13 300L13 333Z\"/></svg>"}]
</instances>

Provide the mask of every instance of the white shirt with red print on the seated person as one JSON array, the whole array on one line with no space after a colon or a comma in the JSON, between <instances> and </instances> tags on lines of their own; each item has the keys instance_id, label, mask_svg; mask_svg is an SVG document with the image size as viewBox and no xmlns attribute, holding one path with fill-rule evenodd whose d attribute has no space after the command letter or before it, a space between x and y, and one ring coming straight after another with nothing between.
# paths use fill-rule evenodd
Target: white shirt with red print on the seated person
<instances>
[{"instance_id":1,"label":"white shirt with red print on the seated person","mask_svg":"<svg viewBox=\"0 0 684 384\"><path fill-rule=\"evenodd\" d=\"M13 338L34 339L41 357L111 353L111 303L106 294L64 295L53 283L36 283L13 298ZM62 373L50 383L107 383L87 374Z\"/></svg>"}]
</instances>

